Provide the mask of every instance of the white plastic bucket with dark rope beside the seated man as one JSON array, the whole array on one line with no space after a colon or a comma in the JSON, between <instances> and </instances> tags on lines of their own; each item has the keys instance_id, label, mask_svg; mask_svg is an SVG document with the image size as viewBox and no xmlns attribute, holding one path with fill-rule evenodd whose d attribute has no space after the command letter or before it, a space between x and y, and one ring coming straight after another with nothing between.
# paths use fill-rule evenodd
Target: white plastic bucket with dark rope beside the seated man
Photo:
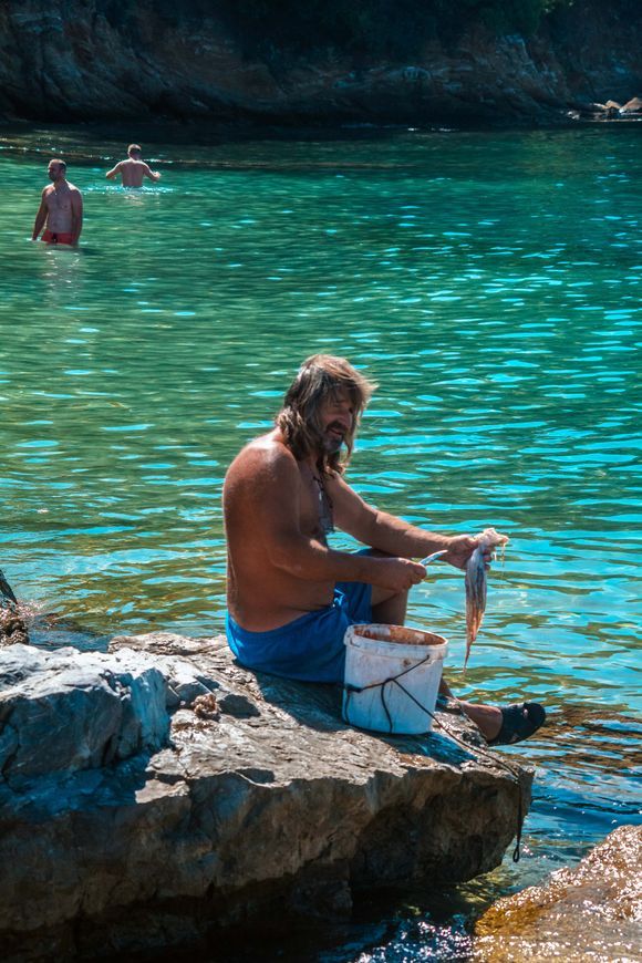
<instances>
[{"instance_id":1,"label":"white plastic bucket with dark rope beside the seated man","mask_svg":"<svg viewBox=\"0 0 642 963\"><path fill-rule=\"evenodd\" d=\"M448 649L444 636L404 625L351 625L343 643L345 722L377 733L429 732Z\"/></svg>"}]
</instances>

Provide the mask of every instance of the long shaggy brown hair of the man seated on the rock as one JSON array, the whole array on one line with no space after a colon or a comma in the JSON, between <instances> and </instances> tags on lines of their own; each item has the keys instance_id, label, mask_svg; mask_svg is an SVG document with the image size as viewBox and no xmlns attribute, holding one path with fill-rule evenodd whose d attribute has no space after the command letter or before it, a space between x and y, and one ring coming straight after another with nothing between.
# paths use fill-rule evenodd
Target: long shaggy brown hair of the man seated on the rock
<instances>
[{"instance_id":1,"label":"long shaggy brown hair of the man seated on the rock","mask_svg":"<svg viewBox=\"0 0 642 963\"><path fill-rule=\"evenodd\" d=\"M376 384L367 381L344 358L313 354L303 362L288 389L276 425L298 460L317 455L317 467L321 473L342 474L352 455L361 415L375 389ZM320 414L324 404L343 395L348 395L354 407L354 422L352 431L345 435L348 451L341 459L340 452L323 452Z\"/></svg>"}]
</instances>

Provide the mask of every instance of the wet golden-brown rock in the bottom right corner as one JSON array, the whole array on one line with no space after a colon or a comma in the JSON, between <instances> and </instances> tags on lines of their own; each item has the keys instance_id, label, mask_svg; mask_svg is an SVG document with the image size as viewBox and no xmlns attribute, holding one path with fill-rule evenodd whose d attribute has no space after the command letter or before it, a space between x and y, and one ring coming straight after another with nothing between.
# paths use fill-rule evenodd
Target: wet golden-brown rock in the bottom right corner
<instances>
[{"instance_id":1,"label":"wet golden-brown rock in the bottom right corner","mask_svg":"<svg viewBox=\"0 0 642 963\"><path fill-rule=\"evenodd\" d=\"M642 959L642 826L621 826L574 869L498 900L478 920L474 960Z\"/></svg>"}]
</instances>

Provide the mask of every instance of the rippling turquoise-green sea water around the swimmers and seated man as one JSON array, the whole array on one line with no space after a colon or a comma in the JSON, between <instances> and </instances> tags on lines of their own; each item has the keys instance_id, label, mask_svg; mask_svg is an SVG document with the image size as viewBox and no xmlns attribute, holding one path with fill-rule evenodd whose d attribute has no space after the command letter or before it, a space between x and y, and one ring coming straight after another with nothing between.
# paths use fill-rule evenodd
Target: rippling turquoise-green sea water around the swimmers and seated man
<instances>
[{"instance_id":1,"label":"rippling turquoise-green sea water around the swimmers and seated man","mask_svg":"<svg viewBox=\"0 0 642 963\"><path fill-rule=\"evenodd\" d=\"M511 537L465 680L460 576L433 567L408 620L448 638L459 694L547 705L507 750L537 767L521 862L289 959L464 959L490 899L640 821L640 133L153 144L137 191L104 179L128 135L0 138L0 567L61 636L221 631L226 466L317 351L380 383L365 498ZM58 155L75 251L29 240Z\"/></svg>"}]
</instances>

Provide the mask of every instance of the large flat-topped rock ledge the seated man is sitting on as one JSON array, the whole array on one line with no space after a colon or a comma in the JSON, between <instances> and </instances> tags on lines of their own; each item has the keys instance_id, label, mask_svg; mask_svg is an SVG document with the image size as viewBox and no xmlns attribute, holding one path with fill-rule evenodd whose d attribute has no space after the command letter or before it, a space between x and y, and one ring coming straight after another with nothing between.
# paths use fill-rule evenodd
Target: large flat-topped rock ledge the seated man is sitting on
<instances>
[{"instance_id":1,"label":"large flat-topped rock ledge the seated man is sitting on","mask_svg":"<svg viewBox=\"0 0 642 963\"><path fill-rule=\"evenodd\" d=\"M225 638L0 650L3 963L186 946L352 893L498 866L532 772L341 719L338 687L240 667Z\"/></svg>"}]
</instances>

